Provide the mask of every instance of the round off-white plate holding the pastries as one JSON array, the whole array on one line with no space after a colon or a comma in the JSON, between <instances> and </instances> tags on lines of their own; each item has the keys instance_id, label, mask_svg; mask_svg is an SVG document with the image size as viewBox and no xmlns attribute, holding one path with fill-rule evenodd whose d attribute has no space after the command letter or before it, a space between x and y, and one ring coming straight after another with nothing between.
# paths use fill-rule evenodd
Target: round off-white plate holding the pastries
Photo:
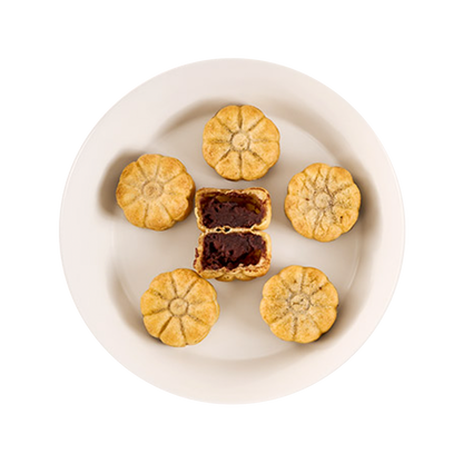
<instances>
[{"instance_id":1,"label":"round off-white plate holding the pastries","mask_svg":"<svg viewBox=\"0 0 463 463\"><path fill-rule=\"evenodd\" d=\"M279 128L279 160L257 181L225 180L203 158L203 128L229 104L254 105ZM270 270L252 282L210 280L220 317L196 346L165 346L141 321L141 294L159 273L193 268L199 236L194 214L166 232L125 219L115 199L117 181L128 162L147 152L180 159L197 188L263 186L272 195ZM293 175L318 161L348 169L362 191L357 224L332 243L298 235L283 207ZM405 267L405 194L376 128L326 81L264 58L200 58L142 79L89 127L61 188L57 247L81 324L127 374L191 403L262 405L334 376L377 333ZM265 282L293 264L322 269L339 294L335 325L307 345L278 339L259 314Z\"/></svg>"}]
</instances>

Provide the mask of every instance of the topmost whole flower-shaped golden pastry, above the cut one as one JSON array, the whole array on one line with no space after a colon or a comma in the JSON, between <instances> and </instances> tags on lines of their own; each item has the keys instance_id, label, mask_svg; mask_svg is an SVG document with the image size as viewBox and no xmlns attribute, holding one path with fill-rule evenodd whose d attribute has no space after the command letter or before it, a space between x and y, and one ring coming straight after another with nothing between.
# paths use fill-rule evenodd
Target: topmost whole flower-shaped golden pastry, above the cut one
<instances>
[{"instance_id":1,"label":"topmost whole flower-shaped golden pastry, above the cut one","mask_svg":"<svg viewBox=\"0 0 463 463\"><path fill-rule=\"evenodd\" d=\"M279 131L254 106L227 106L206 124L203 155L228 180L256 180L278 160Z\"/></svg>"}]
</instances>

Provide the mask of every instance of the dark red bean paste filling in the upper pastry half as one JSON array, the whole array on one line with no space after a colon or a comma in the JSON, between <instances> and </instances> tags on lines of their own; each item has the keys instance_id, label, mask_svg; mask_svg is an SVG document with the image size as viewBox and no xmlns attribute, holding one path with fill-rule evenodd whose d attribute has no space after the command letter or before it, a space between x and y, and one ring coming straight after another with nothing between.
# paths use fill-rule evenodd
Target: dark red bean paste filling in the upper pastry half
<instances>
[{"instance_id":1,"label":"dark red bean paste filling in the upper pastry half","mask_svg":"<svg viewBox=\"0 0 463 463\"><path fill-rule=\"evenodd\" d=\"M237 193L206 196L200 200L203 224L207 228L250 228L262 221L264 209L257 198Z\"/></svg>"}]
</instances>

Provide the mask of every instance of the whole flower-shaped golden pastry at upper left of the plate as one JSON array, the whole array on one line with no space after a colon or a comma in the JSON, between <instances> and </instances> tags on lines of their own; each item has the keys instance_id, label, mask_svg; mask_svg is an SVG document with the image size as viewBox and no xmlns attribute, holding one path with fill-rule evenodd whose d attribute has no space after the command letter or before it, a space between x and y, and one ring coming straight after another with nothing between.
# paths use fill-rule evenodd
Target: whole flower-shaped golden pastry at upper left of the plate
<instances>
[{"instance_id":1,"label":"whole flower-shaped golden pastry at upper left of the plate","mask_svg":"<svg viewBox=\"0 0 463 463\"><path fill-rule=\"evenodd\" d=\"M195 183L175 158L144 155L124 170L116 190L118 205L137 227L165 230L193 209Z\"/></svg>"}]
</instances>

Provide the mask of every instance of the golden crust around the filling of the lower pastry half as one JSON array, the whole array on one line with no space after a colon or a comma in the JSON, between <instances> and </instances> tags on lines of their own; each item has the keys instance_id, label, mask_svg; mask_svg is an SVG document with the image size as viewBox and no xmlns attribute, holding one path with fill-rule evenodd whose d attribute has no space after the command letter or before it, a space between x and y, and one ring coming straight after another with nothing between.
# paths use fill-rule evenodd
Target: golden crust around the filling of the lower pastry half
<instances>
[{"instance_id":1,"label":"golden crust around the filling of the lower pastry half","mask_svg":"<svg viewBox=\"0 0 463 463\"><path fill-rule=\"evenodd\" d=\"M219 232L224 237L233 237L234 234L249 234L262 237L263 250L257 254L256 263L246 264L239 263L236 267L229 268L230 266L221 266L219 268L208 268L205 265L205 242L207 237L217 232L206 232L199 236L198 247L196 249L196 258L194 262L195 270L203 276L203 278L215 278L219 282L233 282L234 279L249 280L260 276L264 276L270 268L272 260L272 242L268 234L265 232L249 232L246 228L235 228L233 232Z\"/></svg>"}]
</instances>

